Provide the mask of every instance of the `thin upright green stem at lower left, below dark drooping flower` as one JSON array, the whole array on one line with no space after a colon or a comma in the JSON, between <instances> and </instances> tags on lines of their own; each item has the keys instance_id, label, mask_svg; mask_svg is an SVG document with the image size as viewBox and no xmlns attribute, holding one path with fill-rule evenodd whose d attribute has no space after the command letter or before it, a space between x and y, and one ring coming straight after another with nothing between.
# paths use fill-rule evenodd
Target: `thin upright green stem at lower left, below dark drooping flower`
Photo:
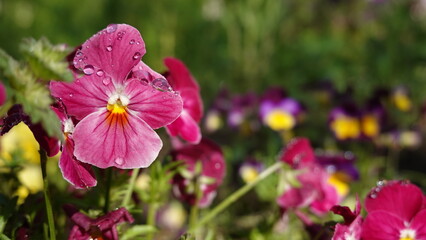
<instances>
[{"instance_id":1,"label":"thin upright green stem at lower left, below dark drooping flower","mask_svg":"<svg viewBox=\"0 0 426 240\"><path fill-rule=\"evenodd\" d=\"M47 156L46 151L40 149L40 166L41 166L41 174L43 177L43 194L44 194L44 202L46 203L46 214L47 214L47 224L49 225L49 235L51 240L56 240L56 230L55 230L55 222L53 220L53 210L52 204L49 198L49 182L47 180Z\"/></svg>"}]
</instances>

